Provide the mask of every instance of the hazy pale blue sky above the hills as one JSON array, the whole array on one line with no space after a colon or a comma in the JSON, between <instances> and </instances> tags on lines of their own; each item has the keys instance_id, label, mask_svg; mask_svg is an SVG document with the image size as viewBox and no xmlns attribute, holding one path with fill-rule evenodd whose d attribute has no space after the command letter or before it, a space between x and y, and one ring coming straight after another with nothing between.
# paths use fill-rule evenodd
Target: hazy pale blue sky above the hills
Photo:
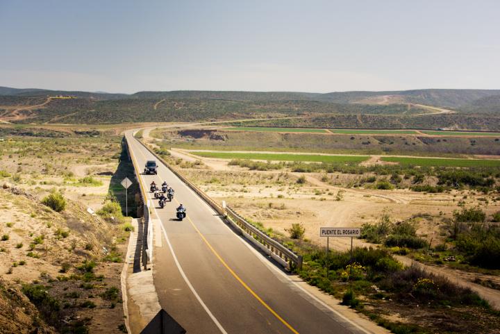
<instances>
[{"instance_id":1,"label":"hazy pale blue sky above the hills","mask_svg":"<svg viewBox=\"0 0 500 334\"><path fill-rule=\"evenodd\" d=\"M500 89L500 1L0 0L0 85Z\"/></svg>"}]
</instances>

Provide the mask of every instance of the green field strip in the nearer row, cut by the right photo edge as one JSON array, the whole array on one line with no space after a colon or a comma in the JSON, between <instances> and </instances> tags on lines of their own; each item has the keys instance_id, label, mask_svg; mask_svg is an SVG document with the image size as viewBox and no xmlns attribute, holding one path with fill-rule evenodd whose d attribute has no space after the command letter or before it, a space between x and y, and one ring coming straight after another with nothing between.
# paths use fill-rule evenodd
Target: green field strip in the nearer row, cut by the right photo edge
<instances>
[{"instance_id":1,"label":"green field strip in the nearer row, cut by the right photo edge","mask_svg":"<svg viewBox=\"0 0 500 334\"><path fill-rule=\"evenodd\" d=\"M382 157L385 162L422 167L500 167L500 160Z\"/></svg>"}]
</instances>

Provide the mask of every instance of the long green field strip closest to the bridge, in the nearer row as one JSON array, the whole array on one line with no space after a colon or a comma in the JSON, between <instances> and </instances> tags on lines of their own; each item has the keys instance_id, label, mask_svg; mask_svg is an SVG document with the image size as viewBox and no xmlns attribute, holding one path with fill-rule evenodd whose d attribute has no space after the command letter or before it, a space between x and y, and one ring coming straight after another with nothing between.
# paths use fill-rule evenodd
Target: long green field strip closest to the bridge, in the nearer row
<instances>
[{"instance_id":1,"label":"long green field strip closest to the bridge, in the nearer row","mask_svg":"<svg viewBox=\"0 0 500 334\"><path fill-rule=\"evenodd\" d=\"M363 162L368 156L323 156L315 154L288 154L288 153L242 153L242 152L203 152L191 151L195 156L220 159L249 159L273 161L306 161L306 162Z\"/></svg>"}]
</instances>

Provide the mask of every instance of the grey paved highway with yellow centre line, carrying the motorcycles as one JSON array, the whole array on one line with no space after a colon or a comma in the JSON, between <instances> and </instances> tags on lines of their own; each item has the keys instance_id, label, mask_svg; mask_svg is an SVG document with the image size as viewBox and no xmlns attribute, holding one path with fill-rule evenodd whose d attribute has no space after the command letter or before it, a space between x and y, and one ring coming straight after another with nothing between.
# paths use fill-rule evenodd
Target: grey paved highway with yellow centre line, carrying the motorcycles
<instances>
[{"instance_id":1,"label":"grey paved highway with yellow centre line, carrying the motorcycles","mask_svg":"<svg viewBox=\"0 0 500 334\"><path fill-rule=\"evenodd\" d=\"M126 138L138 166L156 160L131 131ZM158 175L140 178L148 191L151 181L167 181L175 198L160 209L148 193L162 234L153 278L160 305L188 334L368 333L302 290L157 162ZM175 218L179 203L188 209L183 222Z\"/></svg>"}]
</instances>

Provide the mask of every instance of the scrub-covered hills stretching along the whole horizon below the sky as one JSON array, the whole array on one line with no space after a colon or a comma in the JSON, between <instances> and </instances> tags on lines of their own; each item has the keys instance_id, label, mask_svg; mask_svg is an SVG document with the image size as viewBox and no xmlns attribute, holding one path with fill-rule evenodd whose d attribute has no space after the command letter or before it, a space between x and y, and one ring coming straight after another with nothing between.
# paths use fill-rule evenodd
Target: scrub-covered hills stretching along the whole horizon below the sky
<instances>
[{"instance_id":1,"label":"scrub-covered hills stretching along the whole horizon below the sky","mask_svg":"<svg viewBox=\"0 0 500 334\"><path fill-rule=\"evenodd\" d=\"M68 96L74 98L65 98ZM116 124L303 117L324 114L408 117L449 112L463 113L470 117L480 115L500 117L500 90L431 89L325 94L177 90L109 94L0 87L0 120L17 123ZM380 121L382 119L380 117L374 119L376 119L374 124L380 123L378 126L383 126L383 122L394 121L396 124L400 122L397 118L388 118L383 122ZM465 119L459 117L436 117L436 123L427 122L427 118L425 119L425 127L436 127L435 124L441 127L439 124L444 120L447 121L444 123L452 128L467 126ZM455 120L457 126L451 124ZM487 129L487 124L483 124L481 119L474 119L471 124L478 129ZM494 127L497 128L496 125Z\"/></svg>"}]
</instances>

